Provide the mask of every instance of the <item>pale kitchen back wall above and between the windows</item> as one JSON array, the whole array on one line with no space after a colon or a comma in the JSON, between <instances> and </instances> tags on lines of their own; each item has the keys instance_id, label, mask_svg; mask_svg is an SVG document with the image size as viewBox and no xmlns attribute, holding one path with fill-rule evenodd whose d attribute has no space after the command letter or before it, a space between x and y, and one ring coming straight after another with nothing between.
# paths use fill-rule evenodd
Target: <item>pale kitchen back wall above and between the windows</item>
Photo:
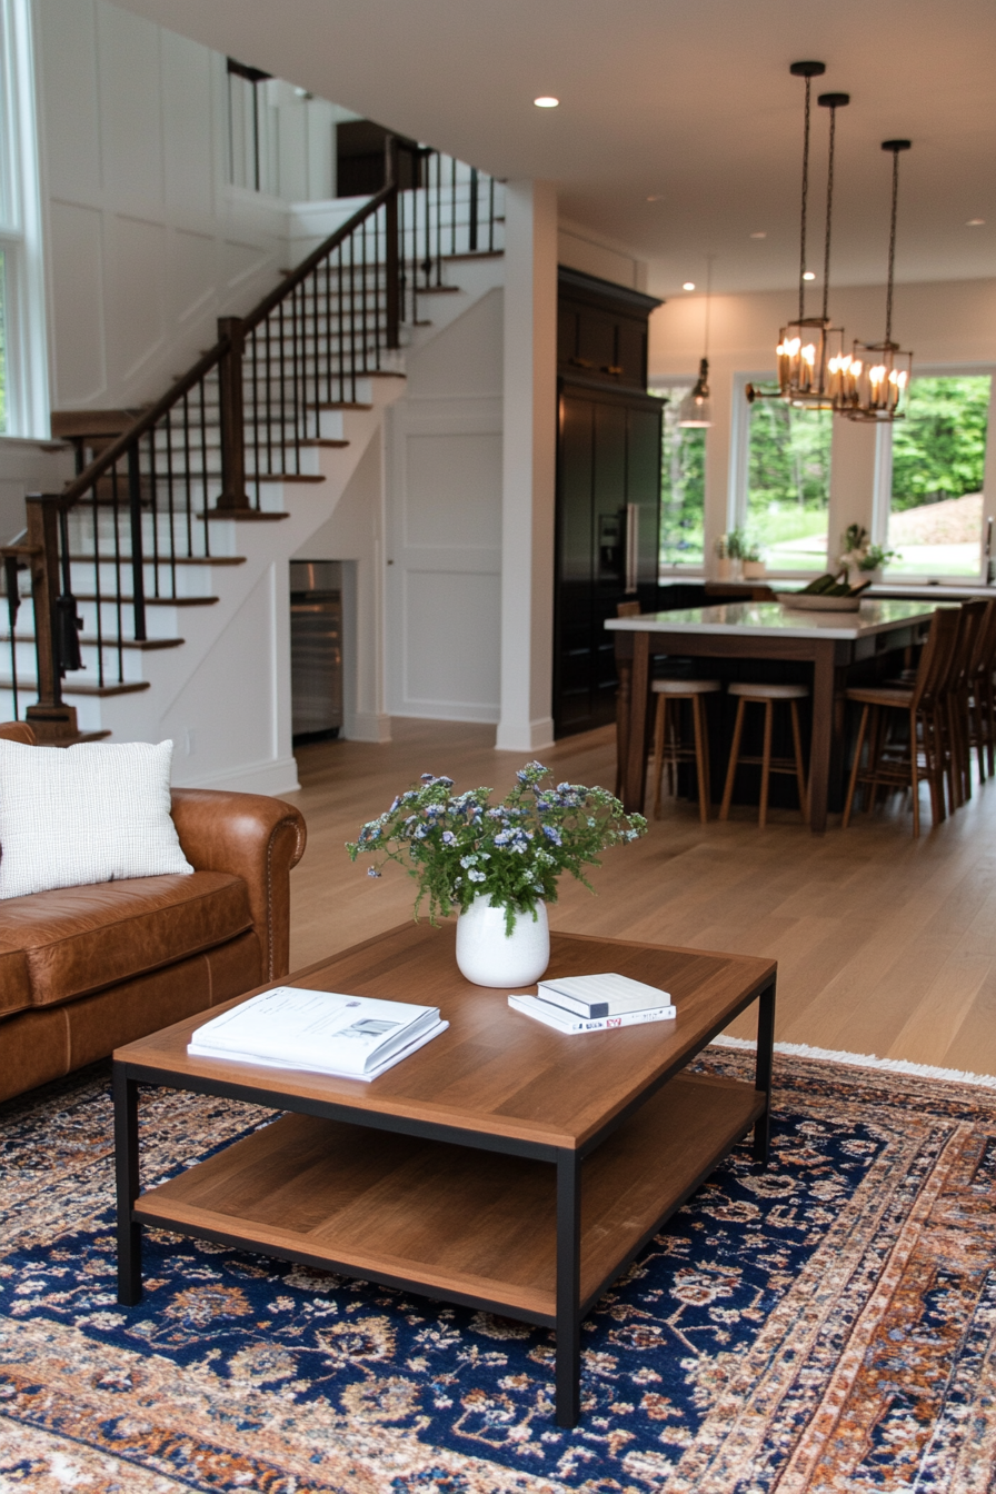
<instances>
[{"instance_id":1,"label":"pale kitchen back wall above and between the windows","mask_svg":"<svg viewBox=\"0 0 996 1494\"><path fill-rule=\"evenodd\" d=\"M712 426L706 432L706 556L732 521L730 451L733 423L745 418L747 400L735 403L736 375L774 376L778 329L796 315L794 291L714 296L709 336ZM806 305L815 314L815 294ZM885 290L881 285L833 291L830 314L854 338L878 341L884 333ZM996 365L996 278L930 281L897 285L893 338L914 351L917 366ZM694 376L702 357L703 299L675 297L650 320L650 382ZM832 545L850 523L872 527L874 432L847 420L833 423L829 535ZM990 463L992 468L992 463Z\"/></svg>"}]
</instances>

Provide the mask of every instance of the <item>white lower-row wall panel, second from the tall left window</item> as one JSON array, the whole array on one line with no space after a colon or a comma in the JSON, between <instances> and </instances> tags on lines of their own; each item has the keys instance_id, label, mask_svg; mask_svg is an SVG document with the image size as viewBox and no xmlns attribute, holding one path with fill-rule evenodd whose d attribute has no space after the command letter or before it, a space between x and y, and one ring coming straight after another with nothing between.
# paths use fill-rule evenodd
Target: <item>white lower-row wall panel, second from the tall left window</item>
<instances>
[{"instance_id":1,"label":"white lower-row wall panel, second from the tall left window","mask_svg":"<svg viewBox=\"0 0 996 1494\"><path fill-rule=\"evenodd\" d=\"M113 217L108 254L109 354L118 378L130 379L163 347L166 227L142 218Z\"/></svg>"}]
</instances>

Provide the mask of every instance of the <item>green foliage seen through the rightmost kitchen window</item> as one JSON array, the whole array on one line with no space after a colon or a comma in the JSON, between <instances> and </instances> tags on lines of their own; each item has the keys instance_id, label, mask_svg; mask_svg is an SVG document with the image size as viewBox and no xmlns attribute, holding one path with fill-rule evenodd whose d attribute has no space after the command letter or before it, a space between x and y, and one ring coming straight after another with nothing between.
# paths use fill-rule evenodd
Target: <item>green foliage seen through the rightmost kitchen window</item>
<instances>
[{"instance_id":1,"label":"green foliage seen through the rightmost kitchen window","mask_svg":"<svg viewBox=\"0 0 996 1494\"><path fill-rule=\"evenodd\" d=\"M891 427L893 509L983 487L990 376L915 378L909 411Z\"/></svg>"}]
</instances>

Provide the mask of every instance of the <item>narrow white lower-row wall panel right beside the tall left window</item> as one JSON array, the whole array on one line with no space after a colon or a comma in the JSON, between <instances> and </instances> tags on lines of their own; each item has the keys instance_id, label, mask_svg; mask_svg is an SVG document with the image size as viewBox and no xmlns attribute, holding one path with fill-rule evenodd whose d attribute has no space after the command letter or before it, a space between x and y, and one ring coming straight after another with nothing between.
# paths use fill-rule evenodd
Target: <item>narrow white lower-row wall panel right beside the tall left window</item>
<instances>
[{"instance_id":1,"label":"narrow white lower-row wall panel right beside the tall left window","mask_svg":"<svg viewBox=\"0 0 996 1494\"><path fill-rule=\"evenodd\" d=\"M108 387L103 342L102 215L96 208L49 208L55 405L100 399Z\"/></svg>"}]
</instances>

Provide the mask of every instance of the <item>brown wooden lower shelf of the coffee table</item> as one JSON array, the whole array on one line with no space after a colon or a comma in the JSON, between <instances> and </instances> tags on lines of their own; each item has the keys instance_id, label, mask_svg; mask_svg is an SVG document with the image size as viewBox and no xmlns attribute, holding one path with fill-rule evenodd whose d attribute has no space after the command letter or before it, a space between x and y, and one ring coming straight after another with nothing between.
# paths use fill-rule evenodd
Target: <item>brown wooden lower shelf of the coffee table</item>
<instances>
[{"instance_id":1,"label":"brown wooden lower shelf of the coffee table","mask_svg":"<svg viewBox=\"0 0 996 1494\"><path fill-rule=\"evenodd\" d=\"M682 1074L581 1164L579 1316L765 1112ZM143 1192L133 1221L557 1324L557 1168L285 1115Z\"/></svg>"}]
</instances>

